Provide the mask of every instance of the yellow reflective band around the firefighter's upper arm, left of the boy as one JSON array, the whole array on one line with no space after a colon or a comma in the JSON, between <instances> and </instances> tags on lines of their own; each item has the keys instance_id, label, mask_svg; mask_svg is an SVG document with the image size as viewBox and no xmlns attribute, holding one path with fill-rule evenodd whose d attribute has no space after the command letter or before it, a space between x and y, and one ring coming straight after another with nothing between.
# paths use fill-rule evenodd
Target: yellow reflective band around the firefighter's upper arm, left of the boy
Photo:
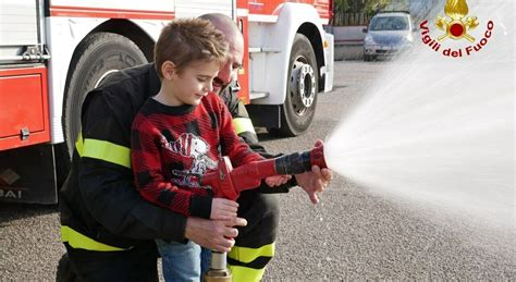
<instances>
[{"instance_id":1,"label":"yellow reflective band around the firefighter's upper arm, left of the boy","mask_svg":"<svg viewBox=\"0 0 516 282\"><path fill-rule=\"evenodd\" d=\"M78 136L75 148L81 157L99 159L131 169L131 149L114 143L83 139Z\"/></svg>"}]
</instances>

